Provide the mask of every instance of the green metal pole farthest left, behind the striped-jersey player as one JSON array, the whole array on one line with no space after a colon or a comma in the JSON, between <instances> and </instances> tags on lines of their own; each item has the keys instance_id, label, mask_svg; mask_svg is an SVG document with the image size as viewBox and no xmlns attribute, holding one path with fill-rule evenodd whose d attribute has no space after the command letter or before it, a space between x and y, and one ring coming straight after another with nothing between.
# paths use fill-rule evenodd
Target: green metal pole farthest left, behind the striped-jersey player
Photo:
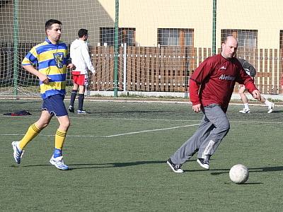
<instances>
[{"instance_id":1,"label":"green metal pole farthest left, behind the striped-jersey player","mask_svg":"<svg viewBox=\"0 0 283 212\"><path fill-rule=\"evenodd\" d=\"M18 95L18 0L13 1L13 95Z\"/></svg>"}]
</instances>

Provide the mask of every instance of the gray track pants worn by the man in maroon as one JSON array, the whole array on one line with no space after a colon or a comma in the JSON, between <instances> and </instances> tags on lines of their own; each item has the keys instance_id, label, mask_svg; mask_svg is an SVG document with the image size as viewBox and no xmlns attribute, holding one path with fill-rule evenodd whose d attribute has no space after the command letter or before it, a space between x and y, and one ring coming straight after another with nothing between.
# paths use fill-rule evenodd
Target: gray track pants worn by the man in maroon
<instances>
[{"instance_id":1,"label":"gray track pants worn by the man in maroon","mask_svg":"<svg viewBox=\"0 0 283 212\"><path fill-rule=\"evenodd\" d=\"M190 137L172 156L175 164L183 164L197 151L197 158L213 155L222 139L230 129L229 120L219 105L204 107L202 122L195 134Z\"/></svg>"}]
</instances>

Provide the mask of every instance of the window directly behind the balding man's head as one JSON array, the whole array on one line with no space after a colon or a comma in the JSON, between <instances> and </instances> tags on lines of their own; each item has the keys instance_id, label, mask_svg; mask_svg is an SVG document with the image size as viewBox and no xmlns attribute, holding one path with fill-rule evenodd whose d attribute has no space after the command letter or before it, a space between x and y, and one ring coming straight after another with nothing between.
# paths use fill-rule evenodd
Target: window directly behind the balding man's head
<instances>
[{"instance_id":1,"label":"window directly behind the balding man's head","mask_svg":"<svg viewBox=\"0 0 283 212\"><path fill-rule=\"evenodd\" d=\"M221 40L227 35L238 39L238 47L258 47L258 30L221 30Z\"/></svg>"}]
</instances>

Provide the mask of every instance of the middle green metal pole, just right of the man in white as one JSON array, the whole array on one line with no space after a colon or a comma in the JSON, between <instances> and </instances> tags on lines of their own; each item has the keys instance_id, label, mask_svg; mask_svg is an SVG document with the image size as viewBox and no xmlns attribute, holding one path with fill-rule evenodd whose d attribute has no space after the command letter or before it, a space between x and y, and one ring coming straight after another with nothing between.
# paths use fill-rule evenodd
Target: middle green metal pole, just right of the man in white
<instances>
[{"instance_id":1,"label":"middle green metal pole, just right of the man in white","mask_svg":"<svg viewBox=\"0 0 283 212\"><path fill-rule=\"evenodd\" d=\"M118 22L119 22L119 0L115 0L115 37L114 37L114 97L118 97Z\"/></svg>"}]
</instances>

